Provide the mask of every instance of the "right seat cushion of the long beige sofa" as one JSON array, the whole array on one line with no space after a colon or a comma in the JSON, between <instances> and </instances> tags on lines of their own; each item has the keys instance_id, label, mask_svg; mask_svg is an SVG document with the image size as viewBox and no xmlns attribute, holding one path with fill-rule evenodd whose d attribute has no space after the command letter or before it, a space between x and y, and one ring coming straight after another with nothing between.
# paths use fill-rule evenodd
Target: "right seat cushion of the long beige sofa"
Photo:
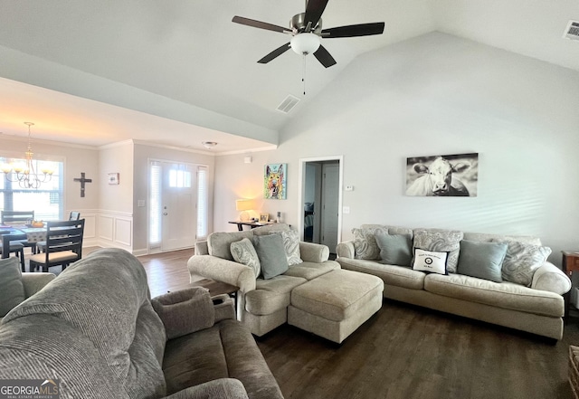
<instances>
[{"instance_id":1,"label":"right seat cushion of the long beige sofa","mask_svg":"<svg viewBox=\"0 0 579 399\"><path fill-rule=\"evenodd\" d=\"M429 274L424 279L424 290L496 308L554 318L562 317L565 309L563 297L553 292L533 290L508 281L499 283L461 274Z\"/></svg>"}]
</instances>

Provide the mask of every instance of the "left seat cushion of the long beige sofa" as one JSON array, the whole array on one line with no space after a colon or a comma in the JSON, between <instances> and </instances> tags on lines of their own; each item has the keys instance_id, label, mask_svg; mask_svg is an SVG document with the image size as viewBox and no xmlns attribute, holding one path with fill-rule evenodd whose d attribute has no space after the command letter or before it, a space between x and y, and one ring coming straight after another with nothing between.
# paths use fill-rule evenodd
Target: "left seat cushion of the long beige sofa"
<instances>
[{"instance_id":1,"label":"left seat cushion of the long beige sofa","mask_svg":"<svg viewBox=\"0 0 579 399\"><path fill-rule=\"evenodd\" d=\"M351 258L337 258L342 269L374 274L386 285L394 285L410 290L423 290L425 274L413 271L410 267L380 264L376 261L363 261ZM386 287L385 290L388 290Z\"/></svg>"}]
</instances>

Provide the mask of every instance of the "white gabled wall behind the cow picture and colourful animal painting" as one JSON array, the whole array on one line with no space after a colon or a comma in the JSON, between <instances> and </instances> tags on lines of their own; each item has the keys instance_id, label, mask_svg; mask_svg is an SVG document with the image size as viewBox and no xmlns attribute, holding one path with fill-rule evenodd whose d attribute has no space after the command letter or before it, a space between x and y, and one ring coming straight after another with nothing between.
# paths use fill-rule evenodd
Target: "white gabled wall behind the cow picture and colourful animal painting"
<instances>
[{"instance_id":1,"label":"white gabled wall behind the cow picture and colourful animal painting","mask_svg":"<svg viewBox=\"0 0 579 399\"><path fill-rule=\"evenodd\" d=\"M288 199L262 210L298 223L299 158L344 155L344 240L388 223L537 235L556 264L579 247L579 72L429 33L366 53L308 101L277 150L217 159L215 230L233 230L236 197L261 197L266 163L289 164ZM406 157L471 152L477 197L404 195Z\"/></svg>"}]
</instances>

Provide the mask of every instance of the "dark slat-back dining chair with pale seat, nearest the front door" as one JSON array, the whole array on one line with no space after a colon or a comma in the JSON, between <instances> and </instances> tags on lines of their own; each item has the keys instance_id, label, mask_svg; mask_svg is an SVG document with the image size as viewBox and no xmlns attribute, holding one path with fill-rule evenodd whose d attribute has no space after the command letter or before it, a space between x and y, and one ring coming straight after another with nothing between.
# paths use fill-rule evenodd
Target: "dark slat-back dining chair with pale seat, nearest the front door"
<instances>
[{"instance_id":1,"label":"dark slat-back dining chair with pale seat, nearest the front door","mask_svg":"<svg viewBox=\"0 0 579 399\"><path fill-rule=\"evenodd\" d=\"M52 266L62 265L62 270L73 261L82 258L82 238L84 219L65 222L46 223L45 252L30 258L30 271L43 268L48 271Z\"/></svg>"}]
</instances>

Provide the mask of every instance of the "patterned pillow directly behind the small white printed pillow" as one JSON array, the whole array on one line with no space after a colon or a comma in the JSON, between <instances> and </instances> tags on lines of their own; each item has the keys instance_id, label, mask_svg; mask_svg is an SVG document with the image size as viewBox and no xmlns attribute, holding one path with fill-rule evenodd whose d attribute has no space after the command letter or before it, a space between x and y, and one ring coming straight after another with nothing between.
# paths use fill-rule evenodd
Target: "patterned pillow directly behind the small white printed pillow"
<instances>
[{"instance_id":1,"label":"patterned pillow directly behind the small white printed pillow","mask_svg":"<svg viewBox=\"0 0 579 399\"><path fill-rule=\"evenodd\" d=\"M460 240L462 232L441 229L414 230L413 248L426 251L449 252L447 271L455 273L459 264Z\"/></svg>"}]
</instances>

